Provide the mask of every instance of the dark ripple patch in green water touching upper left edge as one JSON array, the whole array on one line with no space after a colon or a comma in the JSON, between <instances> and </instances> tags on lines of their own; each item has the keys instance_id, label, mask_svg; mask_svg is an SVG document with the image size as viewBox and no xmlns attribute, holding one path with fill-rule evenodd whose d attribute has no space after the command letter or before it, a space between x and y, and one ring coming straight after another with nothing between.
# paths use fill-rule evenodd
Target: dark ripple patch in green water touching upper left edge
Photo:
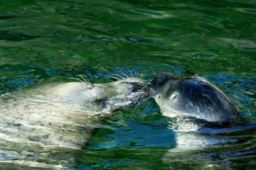
<instances>
[{"instance_id":1,"label":"dark ripple patch in green water touching upper left edge","mask_svg":"<svg viewBox=\"0 0 256 170\"><path fill-rule=\"evenodd\" d=\"M15 34L9 33L10 31L2 30L0 31L0 40L7 40L7 41L23 41L23 40L32 40L38 38L32 35L25 35L25 34Z\"/></svg>"}]
</instances>

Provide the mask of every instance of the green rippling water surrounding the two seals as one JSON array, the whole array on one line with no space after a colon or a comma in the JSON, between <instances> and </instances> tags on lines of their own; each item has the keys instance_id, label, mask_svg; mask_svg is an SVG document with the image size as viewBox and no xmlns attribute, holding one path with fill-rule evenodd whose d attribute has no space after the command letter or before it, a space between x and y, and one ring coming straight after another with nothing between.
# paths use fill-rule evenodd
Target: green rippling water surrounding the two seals
<instances>
[{"instance_id":1,"label":"green rippling water surrounding the two seals","mask_svg":"<svg viewBox=\"0 0 256 170\"><path fill-rule=\"evenodd\" d=\"M83 150L56 154L84 170L256 169L255 21L253 0L2 0L0 93L77 74L110 82L128 69L146 82L158 72L201 75L241 111L229 125L181 135L205 148L168 154L178 143L176 122L149 99L117 111Z\"/></svg>"}]
</instances>

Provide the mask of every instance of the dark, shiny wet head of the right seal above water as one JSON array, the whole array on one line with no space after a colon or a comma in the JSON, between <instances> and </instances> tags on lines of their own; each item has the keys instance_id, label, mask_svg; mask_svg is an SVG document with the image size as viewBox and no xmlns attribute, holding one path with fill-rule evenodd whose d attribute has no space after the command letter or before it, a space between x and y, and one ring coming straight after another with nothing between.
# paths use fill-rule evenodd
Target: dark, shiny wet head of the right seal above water
<instances>
[{"instance_id":1,"label":"dark, shiny wet head of the right seal above water","mask_svg":"<svg viewBox=\"0 0 256 170\"><path fill-rule=\"evenodd\" d=\"M227 95L199 76L180 78L161 73L150 82L149 91L166 116L175 113L225 122L239 113Z\"/></svg>"}]
</instances>

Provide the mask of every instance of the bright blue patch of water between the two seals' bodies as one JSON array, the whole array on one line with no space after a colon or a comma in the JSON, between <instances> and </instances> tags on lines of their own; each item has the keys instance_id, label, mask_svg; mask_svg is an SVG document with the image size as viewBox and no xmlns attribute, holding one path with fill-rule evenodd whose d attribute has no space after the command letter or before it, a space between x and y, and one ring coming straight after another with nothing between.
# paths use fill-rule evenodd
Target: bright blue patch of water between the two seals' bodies
<instances>
[{"instance_id":1,"label":"bright blue patch of water between the two seals' bodies","mask_svg":"<svg viewBox=\"0 0 256 170\"><path fill-rule=\"evenodd\" d=\"M150 116L151 117L151 116ZM153 116L154 117L154 116ZM113 127L110 134L104 136L105 142L95 143L89 148L106 150L113 148L170 148L175 145L175 133L166 129L167 120L137 122L133 120L121 121L118 126L107 122ZM105 131L105 129L102 129ZM100 134L101 130L96 134ZM158 140L156 140L158 139Z\"/></svg>"}]
</instances>

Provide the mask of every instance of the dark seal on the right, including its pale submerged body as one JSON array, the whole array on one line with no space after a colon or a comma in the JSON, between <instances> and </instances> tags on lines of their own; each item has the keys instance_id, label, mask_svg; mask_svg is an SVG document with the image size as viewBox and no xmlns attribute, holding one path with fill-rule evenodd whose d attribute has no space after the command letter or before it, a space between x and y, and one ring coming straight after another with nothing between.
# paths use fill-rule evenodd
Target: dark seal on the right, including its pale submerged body
<instances>
[{"instance_id":1,"label":"dark seal on the right, including its pale submerged body","mask_svg":"<svg viewBox=\"0 0 256 170\"><path fill-rule=\"evenodd\" d=\"M149 82L147 90L161 113L171 117L168 128L174 131L176 144L162 156L171 169L209 169L213 167L211 161L217 160L209 150L235 142L225 133L231 122L228 120L238 116L239 111L224 92L204 77L160 73ZM220 129L216 136L219 127L223 132Z\"/></svg>"}]
</instances>

